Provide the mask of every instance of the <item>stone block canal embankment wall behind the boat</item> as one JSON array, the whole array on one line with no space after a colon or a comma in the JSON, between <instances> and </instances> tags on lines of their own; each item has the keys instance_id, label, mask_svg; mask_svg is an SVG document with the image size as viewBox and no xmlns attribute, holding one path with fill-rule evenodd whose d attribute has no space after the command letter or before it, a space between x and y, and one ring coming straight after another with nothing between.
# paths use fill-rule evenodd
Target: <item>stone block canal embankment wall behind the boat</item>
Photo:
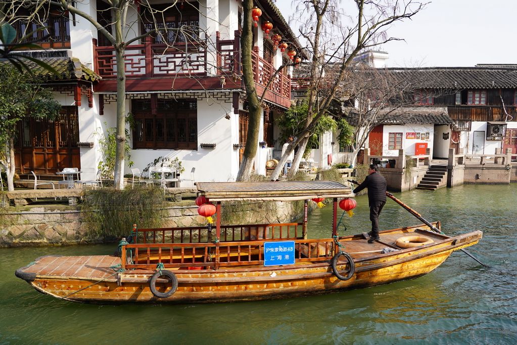
<instances>
[{"instance_id":1,"label":"stone block canal embankment wall behind the boat","mask_svg":"<svg viewBox=\"0 0 517 345\"><path fill-rule=\"evenodd\" d=\"M301 216L299 206L299 202L243 202L234 207L238 210L230 206L223 208L223 212L234 212L232 219L240 219L243 222L240 224L287 223ZM197 214L197 206L168 207L166 210L163 227L206 225L206 219ZM90 227L83 221L79 208L53 205L11 207L0 216L3 218L2 224L7 224L0 227L0 247L102 242L100 238L88 236ZM224 217L222 219L224 222ZM132 224L128 224L128 233L131 228Z\"/></svg>"}]
</instances>

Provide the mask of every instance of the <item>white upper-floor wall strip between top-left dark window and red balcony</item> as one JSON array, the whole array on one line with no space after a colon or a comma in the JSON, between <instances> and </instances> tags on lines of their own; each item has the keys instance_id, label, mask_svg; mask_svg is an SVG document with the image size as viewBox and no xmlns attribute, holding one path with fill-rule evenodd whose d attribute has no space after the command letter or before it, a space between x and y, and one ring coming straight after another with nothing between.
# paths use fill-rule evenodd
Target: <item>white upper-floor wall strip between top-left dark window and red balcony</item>
<instances>
[{"instance_id":1,"label":"white upper-floor wall strip between top-left dark window and red balcony","mask_svg":"<svg viewBox=\"0 0 517 345\"><path fill-rule=\"evenodd\" d=\"M96 14L96 2L76 2L75 6L77 9L93 15L97 18ZM69 15L70 19L70 49L72 50L72 56L79 58L81 62L88 67L93 69L93 38L97 38L97 29L86 19L75 16L75 26L73 25L72 16Z\"/></svg>"}]
</instances>

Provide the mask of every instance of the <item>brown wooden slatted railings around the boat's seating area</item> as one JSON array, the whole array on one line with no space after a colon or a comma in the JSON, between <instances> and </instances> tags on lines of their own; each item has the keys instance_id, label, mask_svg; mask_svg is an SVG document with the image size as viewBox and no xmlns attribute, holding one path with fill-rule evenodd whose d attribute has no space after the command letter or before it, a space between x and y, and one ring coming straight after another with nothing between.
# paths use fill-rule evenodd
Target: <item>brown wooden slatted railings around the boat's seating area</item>
<instances>
[{"instance_id":1,"label":"brown wooden slatted railings around the boat's seating area","mask_svg":"<svg viewBox=\"0 0 517 345\"><path fill-rule=\"evenodd\" d=\"M122 247L124 269L164 268L218 269L225 266L264 263L264 243L278 240L295 242L297 262L329 260L332 239L304 239L303 223L221 226L220 242L212 242L215 229L181 227L139 229L131 234L132 243Z\"/></svg>"}]
</instances>

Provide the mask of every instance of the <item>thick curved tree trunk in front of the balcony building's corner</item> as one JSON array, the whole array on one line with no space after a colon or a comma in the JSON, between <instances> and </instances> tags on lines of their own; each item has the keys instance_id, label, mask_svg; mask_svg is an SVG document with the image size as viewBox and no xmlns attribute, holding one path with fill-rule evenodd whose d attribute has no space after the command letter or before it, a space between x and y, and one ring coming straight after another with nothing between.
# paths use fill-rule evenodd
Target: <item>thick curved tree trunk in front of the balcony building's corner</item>
<instances>
[{"instance_id":1,"label":"thick curved tree trunk in front of the balcony building's corner","mask_svg":"<svg viewBox=\"0 0 517 345\"><path fill-rule=\"evenodd\" d=\"M242 27L242 35L240 36L241 44L241 61L242 61L242 77L246 88L246 96L248 96L249 105L249 122L248 135L246 137L246 147L244 148L244 156L237 173L237 181L248 181L253 168L253 159L255 158L258 146L258 129L260 128L260 120L262 109L255 89L253 80L253 65L251 61L251 50L253 46L253 36L251 33L251 9L253 8L253 0L245 0L242 3L244 12L244 23Z\"/></svg>"}]
</instances>

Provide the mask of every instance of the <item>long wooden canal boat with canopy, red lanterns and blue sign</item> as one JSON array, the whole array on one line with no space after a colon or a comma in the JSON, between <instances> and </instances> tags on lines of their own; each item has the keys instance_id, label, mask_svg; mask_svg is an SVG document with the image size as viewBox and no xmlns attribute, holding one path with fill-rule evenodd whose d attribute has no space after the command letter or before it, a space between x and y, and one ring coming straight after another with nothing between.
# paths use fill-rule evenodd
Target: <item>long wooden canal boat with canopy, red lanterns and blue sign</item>
<instances>
[{"instance_id":1,"label":"long wooden canal boat with canopy, red lanterns and blue sign","mask_svg":"<svg viewBox=\"0 0 517 345\"><path fill-rule=\"evenodd\" d=\"M338 199L354 195L333 181L198 183L197 189L216 203L217 215L227 200L305 200L305 216L285 224L222 225L217 216L215 228L135 227L130 243L120 246L121 257L44 256L16 275L40 292L76 302L276 299L416 278L482 236L473 231L449 237L419 225L381 231L372 244L364 234L340 237ZM316 197L333 201L329 238L307 236L307 200ZM440 228L439 222L432 225ZM404 248L404 241L417 246ZM285 257L292 262L275 261Z\"/></svg>"}]
</instances>

